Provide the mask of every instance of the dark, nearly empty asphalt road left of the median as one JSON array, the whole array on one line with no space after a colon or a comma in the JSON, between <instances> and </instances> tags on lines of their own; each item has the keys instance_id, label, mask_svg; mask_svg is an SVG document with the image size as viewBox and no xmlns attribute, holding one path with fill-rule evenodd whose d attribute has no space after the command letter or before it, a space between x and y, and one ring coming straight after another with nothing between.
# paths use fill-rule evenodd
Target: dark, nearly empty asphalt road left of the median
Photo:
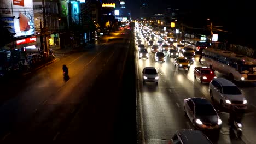
<instances>
[{"instance_id":1,"label":"dark, nearly empty asphalt road left of the median","mask_svg":"<svg viewBox=\"0 0 256 144\"><path fill-rule=\"evenodd\" d=\"M0 106L0 142L119 143L125 135L135 143L131 35L113 33L84 52L60 55L26 81L9 82L5 90L13 89Z\"/></svg>"}]
</instances>

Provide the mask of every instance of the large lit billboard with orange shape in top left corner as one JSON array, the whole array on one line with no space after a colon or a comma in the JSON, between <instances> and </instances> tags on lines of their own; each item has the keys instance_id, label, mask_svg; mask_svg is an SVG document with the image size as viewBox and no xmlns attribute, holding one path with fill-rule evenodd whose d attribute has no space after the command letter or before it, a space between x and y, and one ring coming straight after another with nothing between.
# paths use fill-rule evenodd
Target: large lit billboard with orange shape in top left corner
<instances>
[{"instance_id":1,"label":"large lit billboard with orange shape in top left corner","mask_svg":"<svg viewBox=\"0 0 256 144\"><path fill-rule=\"evenodd\" d=\"M4 21L13 27L10 32L16 33L14 37L35 34L32 0L0 0L0 13Z\"/></svg>"}]
</instances>

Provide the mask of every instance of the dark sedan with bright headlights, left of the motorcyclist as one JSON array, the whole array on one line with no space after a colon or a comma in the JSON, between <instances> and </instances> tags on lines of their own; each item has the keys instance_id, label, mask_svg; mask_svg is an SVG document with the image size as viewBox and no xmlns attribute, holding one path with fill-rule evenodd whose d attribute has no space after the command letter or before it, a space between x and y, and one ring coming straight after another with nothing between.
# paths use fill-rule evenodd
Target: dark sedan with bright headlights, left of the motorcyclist
<instances>
[{"instance_id":1,"label":"dark sedan with bright headlights, left of the motorcyclist","mask_svg":"<svg viewBox=\"0 0 256 144\"><path fill-rule=\"evenodd\" d=\"M184 99L184 115L188 116L194 129L218 131L222 128L220 119L213 105L206 98Z\"/></svg>"}]
</instances>

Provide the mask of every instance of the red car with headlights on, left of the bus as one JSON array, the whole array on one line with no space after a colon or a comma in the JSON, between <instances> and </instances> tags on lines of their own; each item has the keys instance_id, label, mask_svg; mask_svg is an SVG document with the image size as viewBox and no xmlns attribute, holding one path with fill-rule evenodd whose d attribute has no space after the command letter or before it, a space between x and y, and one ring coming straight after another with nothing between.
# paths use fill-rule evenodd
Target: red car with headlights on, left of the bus
<instances>
[{"instance_id":1,"label":"red car with headlights on, left of the bus","mask_svg":"<svg viewBox=\"0 0 256 144\"><path fill-rule=\"evenodd\" d=\"M194 77L196 80L199 80L201 83L207 82L210 83L213 78L217 78L214 74L214 71L210 67L195 67L194 68Z\"/></svg>"}]
</instances>

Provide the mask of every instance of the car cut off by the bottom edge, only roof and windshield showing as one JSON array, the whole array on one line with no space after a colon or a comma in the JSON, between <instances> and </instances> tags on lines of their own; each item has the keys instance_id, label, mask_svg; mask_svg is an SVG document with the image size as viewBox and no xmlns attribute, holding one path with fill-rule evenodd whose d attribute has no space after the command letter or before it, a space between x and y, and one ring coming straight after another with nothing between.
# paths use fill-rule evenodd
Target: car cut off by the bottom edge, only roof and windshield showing
<instances>
[{"instance_id":1,"label":"car cut off by the bottom edge, only roof and windshield showing","mask_svg":"<svg viewBox=\"0 0 256 144\"><path fill-rule=\"evenodd\" d=\"M211 140L200 130L178 130L169 142L170 144L212 144Z\"/></svg>"}]
</instances>

